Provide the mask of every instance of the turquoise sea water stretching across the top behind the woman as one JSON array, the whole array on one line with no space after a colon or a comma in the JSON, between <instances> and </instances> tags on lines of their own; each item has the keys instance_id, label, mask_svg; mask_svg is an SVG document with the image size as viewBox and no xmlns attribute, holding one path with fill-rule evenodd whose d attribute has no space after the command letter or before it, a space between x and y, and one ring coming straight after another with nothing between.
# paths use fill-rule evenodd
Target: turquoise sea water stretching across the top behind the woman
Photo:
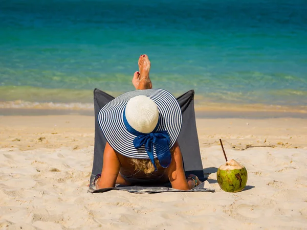
<instances>
[{"instance_id":1,"label":"turquoise sea water stretching across the top behind the woman","mask_svg":"<svg viewBox=\"0 0 307 230\"><path fill-rule=\"evenodd\" d=\"M1 0L0 101L92 101L154 87L199 101L307 105L307 1Z\"/></svg>"}]
</instances>

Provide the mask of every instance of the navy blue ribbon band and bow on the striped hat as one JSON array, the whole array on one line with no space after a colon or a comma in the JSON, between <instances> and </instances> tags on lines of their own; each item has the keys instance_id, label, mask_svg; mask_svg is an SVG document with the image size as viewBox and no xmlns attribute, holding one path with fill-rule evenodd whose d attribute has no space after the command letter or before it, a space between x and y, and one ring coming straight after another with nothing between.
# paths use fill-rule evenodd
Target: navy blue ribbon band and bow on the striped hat
<instances>
[{"instance_id":1,"label":"navy blue ribbon band and bow on the striped hat","mask_svg":"<svg viewBox=\"0 0 307 230\"><path fill-rule=\"evenodd\" d=\"M167 131L157 132L160 121L158 120L156 128L150 133L142 133L131 127L126 119L125 110L123 112L123 121L127 131L136 135L133 140L134 147L139 149L145 145L147 155L149 156L153 167L155 167L155 171L157 171L157 166L155 164L155 158L153 157L153 147L156 148L157 158L160 165L163 168L167 168L171 162L171 154L169 151L170 138Z\"/></svg>"}]
</instances>

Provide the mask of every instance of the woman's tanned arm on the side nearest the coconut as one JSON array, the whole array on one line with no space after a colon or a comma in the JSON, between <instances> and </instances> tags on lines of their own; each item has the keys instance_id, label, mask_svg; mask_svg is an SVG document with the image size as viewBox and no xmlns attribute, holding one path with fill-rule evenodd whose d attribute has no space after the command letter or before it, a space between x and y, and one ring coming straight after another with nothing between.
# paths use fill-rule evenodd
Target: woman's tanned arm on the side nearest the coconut
<instances>
[{"instance_id":1,"label":"woman's tanned arm on the side nearest the coconut","mask_svg":"<svg viewBox=\"0 0 307 230\"><path fill-rule=\"evenodd\" d=\"M187 181L182 162L182 154L178 142L175 143L172 160L168 167L168 178L173 189L189 190L195 187L194 181Z\"/></svg>"}]
</instances>

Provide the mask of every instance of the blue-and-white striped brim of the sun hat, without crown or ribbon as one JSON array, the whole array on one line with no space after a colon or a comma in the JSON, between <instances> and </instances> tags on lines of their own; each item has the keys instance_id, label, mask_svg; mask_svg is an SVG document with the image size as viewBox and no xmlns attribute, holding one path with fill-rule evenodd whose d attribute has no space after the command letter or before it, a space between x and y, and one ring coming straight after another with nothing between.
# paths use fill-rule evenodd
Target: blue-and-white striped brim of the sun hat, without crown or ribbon
<instances>
[{"instance_id":1,"label":"blue-and-white striped brim of the sun hat, without crown or ribbon","mask_svg":"<svg viewBox=\"0 0 307 230\"><path fill-rule=\"evenodd\" d=\"M123 122L123 112L131 98L145 95L153 100L159 110L160 124L158 131L167 131L170 137L171 148L180 133L182 126L182 113L176 98L164 89L135 90L120 95L107 103L98 113L98 122L106 141L118 153L131 158L145 158L148 155L144 146L139 149L134 147L135 135L129 133ZM153 157L157 157L153 149Z\"/></svg>"}]
</instances>

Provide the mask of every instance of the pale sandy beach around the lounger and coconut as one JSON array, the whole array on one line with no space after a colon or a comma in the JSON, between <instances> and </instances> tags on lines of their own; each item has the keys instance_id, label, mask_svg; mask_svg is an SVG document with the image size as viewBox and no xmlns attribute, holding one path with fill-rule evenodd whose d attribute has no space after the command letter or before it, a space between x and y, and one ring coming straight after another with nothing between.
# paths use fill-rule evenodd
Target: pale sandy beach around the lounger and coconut
<instances>
[{"instance_id":1,"label":"pale sandy beach around the lounger and coconut","mask_svg":"<svg viewBox=\"0 0 307 230\"><path fill-rule=\"evenodd\" d=\"M307 119L197 119L215 193L87 193L92 116L0 117L1 229L307 229ZM228 158L243 192L218 187Z\"/></svg>"}]
</instances>

